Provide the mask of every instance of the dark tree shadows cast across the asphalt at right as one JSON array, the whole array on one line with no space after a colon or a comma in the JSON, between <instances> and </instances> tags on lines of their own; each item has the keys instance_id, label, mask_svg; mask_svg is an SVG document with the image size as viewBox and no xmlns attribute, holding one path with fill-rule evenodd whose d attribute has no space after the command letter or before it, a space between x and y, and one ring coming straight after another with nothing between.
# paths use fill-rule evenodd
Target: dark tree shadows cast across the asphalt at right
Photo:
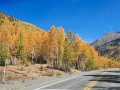
<instances>
[{"instance_id":1,"label":"dark tree shadows cast across the asphalt at right","mask_svg":"<svg viewBox=\"0 0 120 90\"><path fill-rule=\"evenodd\" d=\"M105 74L100 77L100 75L84 75L84 76L93 76L95 77L94 79L91 79L89 81L97 81L97 82L107 82L107 83L116 83L120 84L120 75L117 75L116 73L119 73L120 71L104 71L104 72L112 72L113 75L110 74ZM99 80L96 80L96 78L100 77ZM120 87L102 87L102 86L94 86L93 87L95 90L120 90Z\"/></svg>"}]
</instances>

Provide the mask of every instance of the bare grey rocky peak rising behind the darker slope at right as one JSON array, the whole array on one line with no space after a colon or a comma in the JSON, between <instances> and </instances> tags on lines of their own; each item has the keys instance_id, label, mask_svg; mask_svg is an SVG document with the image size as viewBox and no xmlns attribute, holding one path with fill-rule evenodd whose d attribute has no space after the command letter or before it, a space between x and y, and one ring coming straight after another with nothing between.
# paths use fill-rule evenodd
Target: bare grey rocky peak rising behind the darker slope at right
<instances>
[{"instance_id":1,"label":"bare grey rocky peak rising behind the darker slope at right","mask_svg":"<svg viewBox=\"0 0 120 90\"><path fill-rule=\"evenodd\" d=\"M92 45L97 48L118 38L120 38L120 32L109 32L102 38L93 42Z\"/></svg>"}]
</instances>

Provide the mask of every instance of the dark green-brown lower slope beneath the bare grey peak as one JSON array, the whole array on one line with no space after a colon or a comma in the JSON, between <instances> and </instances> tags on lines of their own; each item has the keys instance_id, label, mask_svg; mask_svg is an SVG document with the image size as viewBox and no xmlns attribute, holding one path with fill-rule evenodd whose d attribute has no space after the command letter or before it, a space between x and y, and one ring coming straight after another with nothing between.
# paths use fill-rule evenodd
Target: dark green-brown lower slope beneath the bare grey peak
<instances>
[{"instance_id":1,"label":"dark green-brown lower slope beneath the bare grey peak","mask_svg":"<svg viewBox=\"0 0 120 90\"><path fill-rule=\"evenodd\" d=\"M104 44L96 48L102 56L106 56L113 60L120 60L120 38Z\"/></svg>"}]
</instances>

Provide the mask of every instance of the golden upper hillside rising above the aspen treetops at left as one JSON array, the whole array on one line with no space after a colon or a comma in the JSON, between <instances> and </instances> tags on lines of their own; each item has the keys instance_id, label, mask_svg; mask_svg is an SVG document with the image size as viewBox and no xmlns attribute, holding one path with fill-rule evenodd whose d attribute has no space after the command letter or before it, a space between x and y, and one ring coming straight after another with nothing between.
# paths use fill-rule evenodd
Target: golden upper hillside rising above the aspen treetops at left
<instances>
[{"instance_id":1,"label":"golden upper hillside rising above the aspen treetops at left","mask_svg":"<svg viewBox=\"0 0 120 90\"><path fill-rule=\"evenodd\" d=\"M8 29L17 28L17 29L32 30L32 31L42 30L32 24L22 22L12 16L6 15L3 12L0 12L0 26L1 29L2 27L6 27Z\"/></svg>"}]
</instances>

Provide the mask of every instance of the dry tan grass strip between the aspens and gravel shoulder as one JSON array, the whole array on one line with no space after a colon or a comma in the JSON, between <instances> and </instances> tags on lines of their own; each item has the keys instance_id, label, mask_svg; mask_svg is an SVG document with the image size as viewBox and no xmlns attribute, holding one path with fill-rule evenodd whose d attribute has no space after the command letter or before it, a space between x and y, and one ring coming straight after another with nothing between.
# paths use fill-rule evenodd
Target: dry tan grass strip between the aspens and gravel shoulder
<instances>
[{"instance_id":1,"label":"dry tan grass strip between the aspens and gravel shoulder","mask_svg":"<svg viewBox=\"0 0 120 90\"><path fill-rule=\"evenodd\" d=\"M2 79L1 73L3 67L0 67L0 81ZM72 73L78 73L77 70L72 70ZM66 73L59 70L48 68L47 64L35 64L27 66L7 66L6 67L6 80L25 80L30 78L39 78L43 76L62 76Z\"/></svg>"}]
</instances>

